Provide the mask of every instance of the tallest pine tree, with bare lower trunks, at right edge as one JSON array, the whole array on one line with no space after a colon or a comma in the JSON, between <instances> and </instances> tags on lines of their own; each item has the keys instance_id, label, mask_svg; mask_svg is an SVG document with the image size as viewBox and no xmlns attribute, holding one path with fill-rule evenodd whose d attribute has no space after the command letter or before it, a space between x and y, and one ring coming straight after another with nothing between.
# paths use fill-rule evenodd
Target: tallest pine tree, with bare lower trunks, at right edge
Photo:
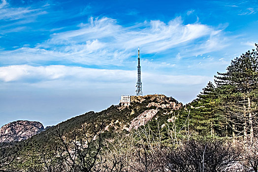
<instances>
[{"instance_id":1,"label":"tallest pine tree, with bare lower trunks, at right edge","mask_svg":"<svg viewBox=\"0 0 258 172\"><path fill-rule=\"evenodd\" d=\"M232 130L232 137L254 138L254 120L257 112L258 45L231 61L226 73L215 76L219 88L221 109Z\"/></svg>"}]
</instances>

